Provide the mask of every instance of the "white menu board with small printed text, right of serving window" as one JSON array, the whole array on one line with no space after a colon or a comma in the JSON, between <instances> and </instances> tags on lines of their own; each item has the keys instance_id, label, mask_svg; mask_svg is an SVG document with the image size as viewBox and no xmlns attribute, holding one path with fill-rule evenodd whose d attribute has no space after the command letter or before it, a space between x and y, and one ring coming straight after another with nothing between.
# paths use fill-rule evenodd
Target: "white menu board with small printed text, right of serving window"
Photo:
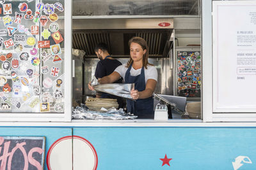
<instances>
[{"instance_id":1,"label":"white menu board with small printed text, right of serving window","mask_svg":"<svg viewBox=\"0 0 256 170\"><path fill-rule=\"evenodd\" d=\"M256 112L256 1L213 1L213 112Z\"/></svg>"}]
</instances>

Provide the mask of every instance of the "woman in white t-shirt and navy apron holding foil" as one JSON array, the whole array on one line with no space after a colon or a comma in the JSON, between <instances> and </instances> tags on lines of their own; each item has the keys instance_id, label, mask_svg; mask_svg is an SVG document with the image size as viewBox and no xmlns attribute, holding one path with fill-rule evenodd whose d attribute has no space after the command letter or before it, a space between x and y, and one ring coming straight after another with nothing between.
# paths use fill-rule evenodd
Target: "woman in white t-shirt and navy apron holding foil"
<instances>
[{"instance_id":1,"label":"woman in white t-shirt and navy apron holding foil","mask_svg":"<svg viewBox=\"0 0 256 170\"><path fill-rule=\"evenodd\" d=\"M129 40L130 59L127 64L118 66L108 76L100 78L99 83L112 83L120 77L125 83L134 83L131 97L127 99L127 112L138 118L154 118L154 99L152 97L157 84L157 69L148 63L148 45L145 39L133 37ZM135 101L136 100L136 101Z\"/></svg>"}]
</instances>

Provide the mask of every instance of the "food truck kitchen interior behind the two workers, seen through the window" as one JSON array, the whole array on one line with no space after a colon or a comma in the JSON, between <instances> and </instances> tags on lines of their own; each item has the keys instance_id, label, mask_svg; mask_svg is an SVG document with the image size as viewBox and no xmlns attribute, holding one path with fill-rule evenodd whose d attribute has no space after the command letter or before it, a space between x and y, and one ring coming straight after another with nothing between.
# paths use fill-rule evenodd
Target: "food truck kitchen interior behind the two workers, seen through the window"
<instances>
[{"instance_id":1,"label":"food truck kitchen interior behind the two workers, seen through the window","mask_svg":"<svg viewBox=\"0 0 256 170\"><path fill-rule=\"evenodd\" d=\"M99 61L95 45L106 43L111 56L124 64L129 39L140 36L158 73L155 115L163 111L157 107L161 104L169 119L201 118L200 0L74 0L72 12L74 108L95 97L88 89Z\"/></svg>"}]
</instances>

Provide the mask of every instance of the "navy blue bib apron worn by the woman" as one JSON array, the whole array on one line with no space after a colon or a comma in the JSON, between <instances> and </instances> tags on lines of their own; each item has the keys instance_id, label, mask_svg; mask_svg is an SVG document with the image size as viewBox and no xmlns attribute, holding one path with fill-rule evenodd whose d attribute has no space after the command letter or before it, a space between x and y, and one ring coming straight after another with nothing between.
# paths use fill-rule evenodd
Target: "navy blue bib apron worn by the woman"
<instances>
[{"instance_id":1,"label":"navy blue bib apron worn by the woman","mask_svg":"<svg viewBox=\"0 0 256 170\"><path fill-rule=\"evenodd\" d=\"M131 67L132 63L125 73L125 83L135 83L134 89L141 92L146 88L144 67L141 68L141 73L138 76L131 76ZM127 99L127 112L131 112L138 118L154 118L153 97L137 99L136 101Z\"/></svg>"}]
</instances>

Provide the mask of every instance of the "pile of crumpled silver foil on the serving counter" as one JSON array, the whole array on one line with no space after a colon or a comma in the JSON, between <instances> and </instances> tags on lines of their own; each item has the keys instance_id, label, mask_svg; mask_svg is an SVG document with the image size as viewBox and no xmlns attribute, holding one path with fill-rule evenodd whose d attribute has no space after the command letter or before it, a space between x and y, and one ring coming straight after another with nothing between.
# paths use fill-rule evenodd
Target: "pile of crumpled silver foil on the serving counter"
<instances>
[{"instance_id":1,"label":"pile of crumpled silver foil on the serving counter","mask_svg":"<svg viewBox=\"0 0 256 170\"><path fill-rule=\"evenodd\" d=\"M104 108L102 108L102 110L104 110ZM135 119L137 116L125 113L122 108L119 110L116 110L116 108L109 108L106 112L92 111L89 110L86 105L81 104L81 107L77 106L72 109L72 118L86 120L128 120Z\"/></svg>"}]
</instances>

